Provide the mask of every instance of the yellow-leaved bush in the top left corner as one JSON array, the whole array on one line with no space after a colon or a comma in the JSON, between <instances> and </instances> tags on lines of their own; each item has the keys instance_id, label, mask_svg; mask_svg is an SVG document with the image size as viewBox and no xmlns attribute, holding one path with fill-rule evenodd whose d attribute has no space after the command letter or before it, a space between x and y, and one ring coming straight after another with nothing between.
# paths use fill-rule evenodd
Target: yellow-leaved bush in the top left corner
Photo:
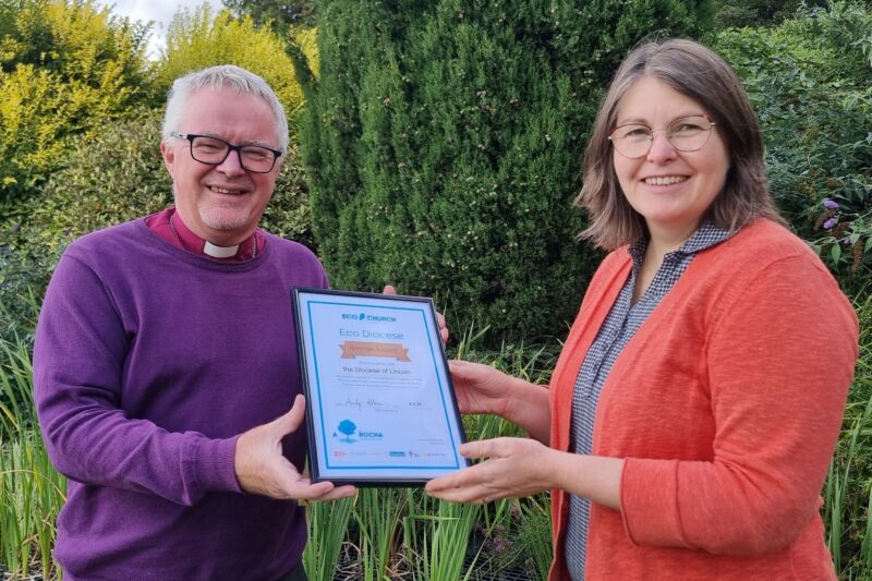
<instances>
[{"instance_id":1,"label":"yellow-leaved bush in the top left corner","mask_svg":"<svg viewBox=\"0 0 872 581\"><path fill-rule=\"evenodd\" d=\"M0 199L29 193L74 134L123 117L145 80L143 35L94 0L0 9Z\"/></svg>"}]
</instances>

